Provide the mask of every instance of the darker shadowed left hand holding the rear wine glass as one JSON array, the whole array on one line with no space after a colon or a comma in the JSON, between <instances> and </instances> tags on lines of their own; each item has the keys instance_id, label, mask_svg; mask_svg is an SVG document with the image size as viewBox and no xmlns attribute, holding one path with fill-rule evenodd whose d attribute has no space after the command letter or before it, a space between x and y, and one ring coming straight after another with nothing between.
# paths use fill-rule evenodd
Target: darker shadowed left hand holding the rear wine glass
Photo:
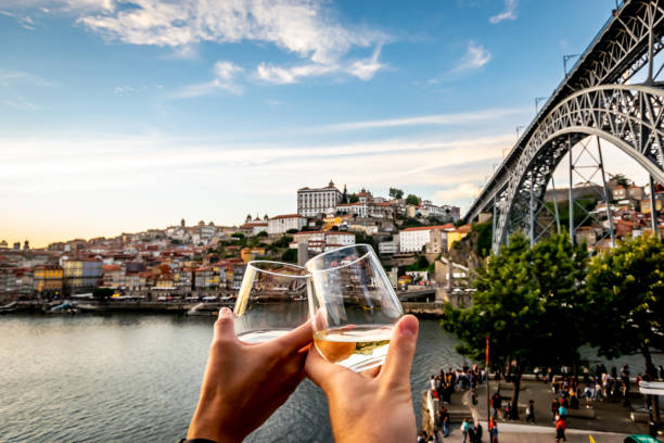
<instances>
[{"instance_id":1,"label":"darker shadowed left hand holding the rear wine glass","mask_svg":"<svg viewBox=\"0 0 664 443\"><path fill-rule=\"evenodd\" d=\"M241 442L281 406L304 379L311 326L265 343L243 343L232 312L224 307L188 439Z\"/></svg>"}]
</instances>

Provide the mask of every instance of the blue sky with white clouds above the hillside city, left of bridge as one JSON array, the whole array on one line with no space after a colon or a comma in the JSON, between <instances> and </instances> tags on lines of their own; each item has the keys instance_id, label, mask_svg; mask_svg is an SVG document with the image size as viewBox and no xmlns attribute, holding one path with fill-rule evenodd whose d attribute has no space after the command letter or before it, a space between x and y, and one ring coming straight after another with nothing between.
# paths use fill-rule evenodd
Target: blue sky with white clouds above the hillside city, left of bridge
<instances>
[{"instance_id":1,"label":"blue sky with white clouds above the hillside city, left of bridge","mask_svg":"<svg viewBox=\"0 0 664 443\"><path fill-rule=\"evenodd\" d=\"M299 187L468 207L614 0L0 0L0 238L232 225Z\"/></svg>"}]
</instances>

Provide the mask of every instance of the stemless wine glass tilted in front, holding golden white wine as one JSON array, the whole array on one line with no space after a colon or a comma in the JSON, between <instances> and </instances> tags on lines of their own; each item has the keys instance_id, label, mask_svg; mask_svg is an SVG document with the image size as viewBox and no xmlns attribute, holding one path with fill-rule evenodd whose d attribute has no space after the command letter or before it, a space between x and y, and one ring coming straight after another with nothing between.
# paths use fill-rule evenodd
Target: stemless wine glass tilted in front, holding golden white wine
<instances>
[{"instance_id":1,"label":"stemless wine glass tilted in front, holding golden white wine","mask_svg":"<svg viewBox=\"0 0 664 443\"><path fill-rule=\"evenodd\" d=\"M335 249L305 268L311 273L309 313L318 352L356 372L382 365L404 311L373 249Z\"/></svg>"}]
</instances>

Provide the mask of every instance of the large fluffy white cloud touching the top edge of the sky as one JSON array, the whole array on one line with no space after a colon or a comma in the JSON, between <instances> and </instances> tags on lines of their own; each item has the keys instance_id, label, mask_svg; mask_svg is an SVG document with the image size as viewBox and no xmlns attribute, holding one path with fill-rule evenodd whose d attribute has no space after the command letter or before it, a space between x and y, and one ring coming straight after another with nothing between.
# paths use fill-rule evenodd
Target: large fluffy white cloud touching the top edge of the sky
<instances>
[{"instance_id":1,"label":"large fluffy white cloud touching the top edge of the sky","mask_svg":"<svg viewBox=\"0 0 664 443\"><path fill-rule=\"evenodd\" d=\"M136 0L135 8L89 14L78 22L112 40L180 47L201 41L271 42L315 63L329 64L354 47L366 48L385 36L340 25L314 0Z\"/></svg>"}]
</instances>

